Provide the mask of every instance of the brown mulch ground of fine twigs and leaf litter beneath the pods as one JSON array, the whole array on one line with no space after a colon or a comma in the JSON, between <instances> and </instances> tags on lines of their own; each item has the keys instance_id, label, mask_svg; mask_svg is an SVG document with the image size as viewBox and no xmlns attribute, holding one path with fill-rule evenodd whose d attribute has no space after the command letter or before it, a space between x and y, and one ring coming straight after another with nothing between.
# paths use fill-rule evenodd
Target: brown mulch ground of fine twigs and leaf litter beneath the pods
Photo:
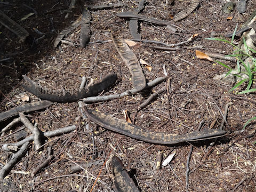
<instances>
[{"instance_id":1,"label":"brown mulch ground of fine twigs and leaf litter beneath the pods","mask_svg":"<svg viewBox=\"0 0 256 192\"><path fill-rule=\"evenodd\" d=\"M15 107L13 103L24 104L25 102L21 100L24 95L29 96L30 102L39 100L22 88L23 74L45 87L78 90L82 76L93 78L97 82L110 73L116 73L118 82L109 92L103 94L122 93L132 89L129 70L113 43L94 42L111 39L110 30L115 31L120 38L131 39L129 22L119 19L115 14L134 9L138 1L122 1L125 5L123 7L91 11L90 44L86 47L61 44L59 48L52 46L53 41L60 30L79 17L81 3L76 4L73 11L69 12L69 17L65 19L69 1L9 2L0 2L1 10L27 29L31 36L25 43L19 43L18 37L11 31L3 26L0 28L0 60L9 58L0 62L1 111ZM77 131L47 140L41 151L35 151L32 145L26 157L13 168L22 172L11 172L6 178L17 191L90 191L99 173L93 191L113 191L113 175L109 161L113 155L122 160L125 169L141 191L186 191L186 164L191 145L194 148L189 160L190 191L256 190L255 124L252 122L241 131L245 122L256 116L255 103L249 100L255 101L255 94L235 97L234 93L228 92L232 85L213 80L215 75L223 73L226 69L195 56L195 50L232 53L233 47L230 45L205 38L234 31L236 23L241 26L250 17L256 2L247 1L247 10L244 14L239 14L236 10L230 14L222 14L221 6L225 1L201 1L195 11L178 22L174 22L172 17L186 7L188 1L147 2L141 15L170 21L182 30L173 33L165 27L141 22L142 40L172 44L186 41L192 35L198 34L192 42L180 46L176 51L154 50L144 46L153 45L149 43L138 43L130 47L139 59L145 60L153 68L149 71L142 66L148 81L164 76L165 66L170 78L170 94L164 92L148 107L138 110L140 103L151 93L166 85L165 81L143 94L94 103L88 107L122 119L123 110L127 110L137 126L182 134L190 129L197 129L202 121L202 129L218 128L225 106L232 102L227 115L228 125L225 126L228 134L219 138L214 146L210 145L212 141L181 143L174 146L153 145L107 131L90 121L83 121L77 102L54 103L45 110L30 113L28 118L31 122L38 122L41 131L68 125L76 125ZM107 3L91 2L94 5ZM24 4L33 7L37 14L20 21L25 15L33 12ZM227 20L229 16L233 16L233 19ZM33 44L33 41L41 35L35 33L33 28L45 34L45 38L39 40L38 44ZM79 45L79 32L78 27L67 39ZM233 68L236 66L236 63L223 62ZM245 88L246 85L239 90ZM90 125L89 131L86 130L86 123ZM1 128L4 125L2 123ZM12 132L21 127L22 125L17 125ZM0 138L1 146L5 142L15 142L13 134L7 133ZM53 151L51 162L31 177L31 170L47 158L49 147ZM176 154L171 163L158 169L157 154L163 153L162 159L165 159L174 151ZM3 166L10 157L10 152L1 149L0 165ZM106 164L103 165L105 161ZM70 175L70 166L81 163L87 163L86 169Z\"/></svg>"}]
</instances>

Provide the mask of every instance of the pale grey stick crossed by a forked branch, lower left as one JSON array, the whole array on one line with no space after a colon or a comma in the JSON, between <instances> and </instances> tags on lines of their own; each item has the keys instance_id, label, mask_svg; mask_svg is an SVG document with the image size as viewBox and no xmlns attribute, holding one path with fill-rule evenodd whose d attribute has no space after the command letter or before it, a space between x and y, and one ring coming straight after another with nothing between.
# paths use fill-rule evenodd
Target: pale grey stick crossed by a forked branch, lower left
<instances>
[{"instance_id":1,"label":"pale grey stick crossed by a forked branch, lower left","mask_svg":"<svg viewBox=\"0 0 256 192\"><path fill-rule=\"evenodd\" d=\"M44 137L55 137L61 134L65 134L65 133L69 133L71 131L75 131L76 130L76 125L70 125L67 127L63 127L57 130L53 130L53 131L47 131L43 133ZM31 134L28 137L26 137L25 139L19 141L19 142L15 142L15 143L5 143L5 148L8 146L17 146L20 147L22 146L24 143L28 142L28 141L33 141L34 139L34 135ZM4 148L3 148L4 150Z\"/></svg>"}]
</instances>

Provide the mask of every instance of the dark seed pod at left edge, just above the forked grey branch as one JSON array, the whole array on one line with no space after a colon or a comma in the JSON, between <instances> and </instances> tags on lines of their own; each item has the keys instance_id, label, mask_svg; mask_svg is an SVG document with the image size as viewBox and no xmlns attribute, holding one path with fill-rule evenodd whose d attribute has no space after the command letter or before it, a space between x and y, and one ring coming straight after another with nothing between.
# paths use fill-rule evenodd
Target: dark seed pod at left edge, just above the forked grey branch
<instances>
[{"instance_id":1,"label":"dark seed pod at left edge, just above the forked grey branch","mask_svg":"<svg viewBox=\"0 0 256 192\"><path fill-rule=\"evenodd\" d=\"M31 112L35 110L41 110L47 107L50 107L53 102L51 101L37 101L33 103L28 103L19 107L15 107L9 111L5 111L4 113L0 114L0 122L4 121L7 118L10 118L14 115L18 115L19 112Z\"/></svg>"}]
</instances>

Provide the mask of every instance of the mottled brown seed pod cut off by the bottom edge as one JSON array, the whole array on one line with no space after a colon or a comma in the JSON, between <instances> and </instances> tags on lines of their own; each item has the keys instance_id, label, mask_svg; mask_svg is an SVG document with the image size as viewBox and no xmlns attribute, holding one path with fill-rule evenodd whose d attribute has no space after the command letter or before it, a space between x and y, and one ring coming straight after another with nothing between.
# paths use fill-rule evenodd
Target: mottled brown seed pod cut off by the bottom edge
<instances>
[{"instance_id":1,"label":"mottled brown seed pod cut off by the bottom edge","mask_svg":"<svg viewBox=\"0 0 256 192\"><path fill-rule=\"evenodd\" d=\"M130 178L123 163L117 156L112 157L112 170L114 174L114 189L119 192L139 192L140 190Z\"/></svg>"}]
</instances>

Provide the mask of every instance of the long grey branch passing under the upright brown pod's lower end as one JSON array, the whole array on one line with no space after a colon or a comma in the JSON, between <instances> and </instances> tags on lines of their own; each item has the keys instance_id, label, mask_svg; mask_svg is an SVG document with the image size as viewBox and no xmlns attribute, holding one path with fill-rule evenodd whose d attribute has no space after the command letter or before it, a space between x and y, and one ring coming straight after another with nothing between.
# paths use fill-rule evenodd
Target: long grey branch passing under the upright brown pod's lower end
<instances>
[{"instance_id":1,"label":"long grey branch passing under the upright brown pod's lower end","mask_svg":"<svg viewBox=\"0 0 256 192\"><path fill-rule=\"evenodd\" d=\"M153 87L159 83L162 83L166 78L167 77L158 77L158 78L154 79L153 81L148 82L145 89L149 89L150 87ZM132 94L137 94L139 92L140 91L138 91L137 89L131 89L131 90L127 90L120 94L111 94L111 95L98 96L98 97L88 97L88 98L84 98L83 101L85 103L110 101L113 99L123 98L123 97L129 96L129 95L132 95Z\"/></svg>"}]
</instances>

